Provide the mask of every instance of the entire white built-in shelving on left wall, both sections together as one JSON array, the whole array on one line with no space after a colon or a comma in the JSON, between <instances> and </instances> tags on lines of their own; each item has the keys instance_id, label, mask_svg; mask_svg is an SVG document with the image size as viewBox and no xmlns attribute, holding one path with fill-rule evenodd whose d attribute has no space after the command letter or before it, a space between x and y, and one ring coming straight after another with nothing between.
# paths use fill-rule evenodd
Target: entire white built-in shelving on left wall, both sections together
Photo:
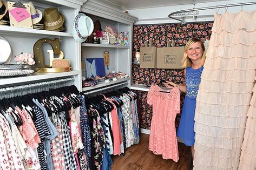
<instances>
[{"instance_id":1,"label":"entire white built-in shelving on left wall, both sections together","mask_svg":"<svg viewBox=\"0 0 256 170\"><path fill-rule=\"evenodd\" d=\"M14 2L17 1L18 0L14 0ZM29 1L24 0L23 3L24 2ZM57 8L58 11L60 11L65 17L64 25L67 27L67 30L65 30L65 32L58 32L0 25L0 36L8 40L12 49L12 58L9 64L15 64L16 62L14 61L14 58L21 52L34 53L33 47L38 39L60 38L61 51L64 53L64 59L69 60L72 71L60 73L34 73L29 74L28 76L0 78L0 88L30 84L32 82L36 83L40 81L47 81L70 76L75 78L75 85L80 91L87 91L87 89L90 88L93 89L104 87L105 84L99 84L96 87L87 87L84 89L82 88L82 76L84 75L82 73L81 67L81 51L83 51L88 58L96 58L103 57L103 52L107 50L110 53L110 65L109 70L106 69L106 73L112 71L121 71L131 76L132 28L133 23L137 18L94 0L32 0L32 2L34 3L36 9L41 10L42 13L46 8ZM87 44L76 42L71 32L74 19L79 11L90 15L94 21L99 19L102 24L102 30L104 30L107 25L111 25L114 26L117 31L128 31L129 46ZM47 50L52 50L51 46L49 44L44 44L43 52L45 65L49 65L49 54ZM130 78L124 78L122 80L119 79L113 82L111 81L106 85L119 83L121 81L128 81L130 85Z\"/></svg>"}]
</instances>

